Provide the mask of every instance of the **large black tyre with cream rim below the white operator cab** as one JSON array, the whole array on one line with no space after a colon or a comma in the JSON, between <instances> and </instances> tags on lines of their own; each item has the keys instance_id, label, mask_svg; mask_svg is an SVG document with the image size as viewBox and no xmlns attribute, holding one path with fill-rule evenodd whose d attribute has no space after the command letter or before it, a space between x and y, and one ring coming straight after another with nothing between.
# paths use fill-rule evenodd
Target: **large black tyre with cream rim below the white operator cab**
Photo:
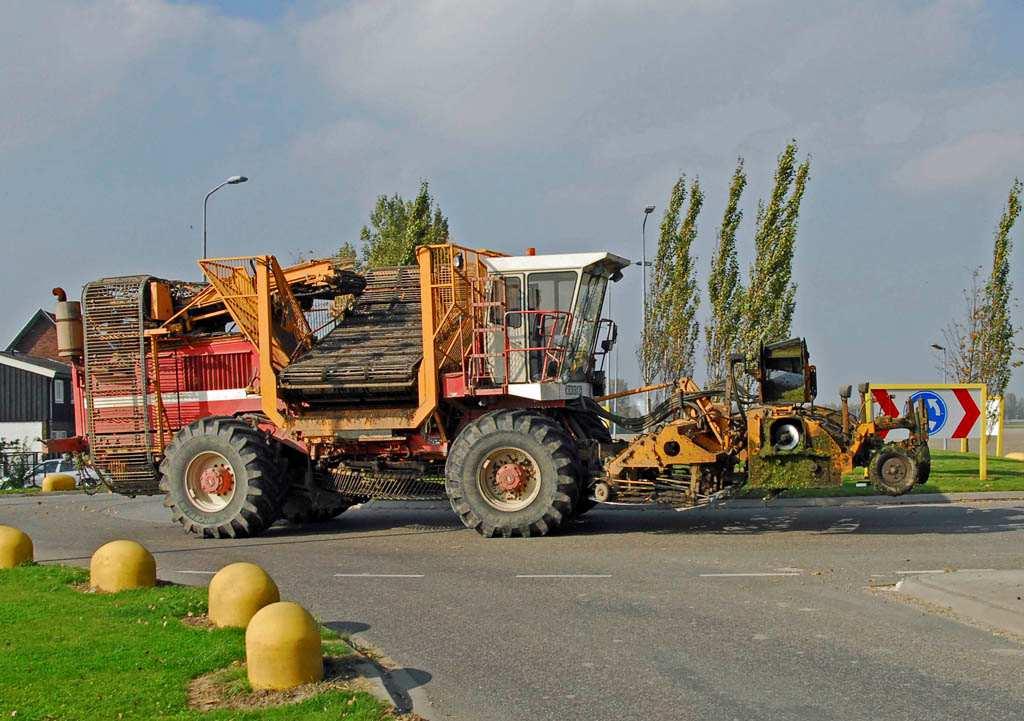
<instances>
[{"instance_id":1,"label":"large black tyre with cream rim below the white operator cab","mask_svg":"<svg viewBox=\"0 0 1024 721\"><path fill-rule=\"evenodd\" d=\"M546 536L572 514L577 464L572 439L553 419L494 411L452 443L444 486L452 509L481 536Z\"/></svg>"}]
</instances>

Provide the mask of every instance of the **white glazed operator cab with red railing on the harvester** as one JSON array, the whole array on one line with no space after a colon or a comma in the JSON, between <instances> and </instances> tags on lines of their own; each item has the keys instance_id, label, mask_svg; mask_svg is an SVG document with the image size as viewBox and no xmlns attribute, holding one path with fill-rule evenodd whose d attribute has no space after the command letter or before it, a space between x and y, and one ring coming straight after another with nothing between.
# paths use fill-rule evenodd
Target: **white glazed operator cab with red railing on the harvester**
<instances>
[{"instance_id":1,"label":"white glazed operator cab with red railing on the harvester","mask_svg":"<svg viewBox=\"0 0 1024 721\"><path fill-rule=\"evenodd\" d=\"M603 392L603 360L616 329L601 308L608 281L621 280L630 261L611 253L481 261L487 300L475 384L538 400Z\"/></svg>"}]
</instances>

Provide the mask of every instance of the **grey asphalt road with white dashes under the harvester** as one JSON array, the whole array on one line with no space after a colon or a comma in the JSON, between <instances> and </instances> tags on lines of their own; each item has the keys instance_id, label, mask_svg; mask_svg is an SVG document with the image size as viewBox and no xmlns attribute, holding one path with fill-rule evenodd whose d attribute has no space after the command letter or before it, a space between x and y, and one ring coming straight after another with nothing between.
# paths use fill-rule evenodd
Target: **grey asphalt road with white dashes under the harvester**
<instances>
[{"instance_id":1,"label":"grey asphalt road with white dashes under the harvester","mask_svg":"<svg viewBox=\"0 0 1024 721\"><path fill-rule=\"evenodd\" d=\"M409 670L433 718L1020 719L1024 644L872 588L1024 566L1024 502L598 509L573 533L483 540L390 504L260 539L201 541L159 501L0 498L37 558L134 538L162 578L237 560Z\"/></svg>"}]
</instances>

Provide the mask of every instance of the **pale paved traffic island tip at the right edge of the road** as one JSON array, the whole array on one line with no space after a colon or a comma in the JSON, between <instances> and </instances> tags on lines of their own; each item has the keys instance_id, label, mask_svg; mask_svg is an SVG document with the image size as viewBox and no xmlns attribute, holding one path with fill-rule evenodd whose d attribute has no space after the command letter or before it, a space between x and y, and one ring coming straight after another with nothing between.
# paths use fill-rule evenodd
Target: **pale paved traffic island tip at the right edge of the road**
<instances>
[{"instance_id":1,"label":"pale paved traffic island tip at the right edge of the road","mask_svg":"<svg viewBox=\"0 0 1024 721\"><path fill-rule=\"evenodd\" d=\"M907 578L896 592L979 626L1024 638L1024 570L953 570Z\"/></svg>"}]
</instances>

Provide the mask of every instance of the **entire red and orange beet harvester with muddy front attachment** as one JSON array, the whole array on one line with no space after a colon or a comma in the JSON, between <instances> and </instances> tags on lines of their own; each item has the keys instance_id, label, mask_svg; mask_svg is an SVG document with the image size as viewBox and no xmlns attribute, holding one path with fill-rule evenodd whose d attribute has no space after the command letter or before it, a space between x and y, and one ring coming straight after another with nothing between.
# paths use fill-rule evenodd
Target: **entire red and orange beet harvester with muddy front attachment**
<instances>
[{"instance_id":1,"label":"entire red and orange beet harvester with muddy front attachment","mask_svg":"<svg viewBox=\"0 0 1024 721\"><path fill-rule=\"evenodd\" d=\"M165 494L190 533L446 496L483 536L544 536L598 502L694 506L839 484L854 466L901 494L928 474L924 410L857 423L849 387L841 410L815 406L801 339L734 356L720 388L663 387L646 416L605 410L616 329L601 308L629 265L609 253L199 264L205 283L108 278L80 303L54 291L78 434L51 450L118 493ZM636 435L613 440L608 421Z\"/></svg>"}]
</instances>

